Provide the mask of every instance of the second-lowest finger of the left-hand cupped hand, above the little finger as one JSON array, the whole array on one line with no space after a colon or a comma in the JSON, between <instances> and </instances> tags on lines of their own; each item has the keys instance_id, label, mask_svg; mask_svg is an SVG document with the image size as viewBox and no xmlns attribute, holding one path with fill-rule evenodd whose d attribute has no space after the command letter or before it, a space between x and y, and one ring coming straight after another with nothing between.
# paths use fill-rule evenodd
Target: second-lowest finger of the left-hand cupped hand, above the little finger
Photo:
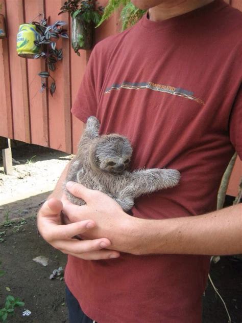
<instances>
[{"instance_id":1,"label":"second-lowest finger of the left-hand cupped hand, above the little finger","mask_svg":"<svg viewBox=\"0 0 242 323\"><path fill-rule=\"evenodd\" d=\"M57 241L54 245L55 248L65 250L67 253L71 252L80 254L107 248L111 245L111 242L106 238L81 241L77 239L70 239Z\"/></svg>"}]
</instances>

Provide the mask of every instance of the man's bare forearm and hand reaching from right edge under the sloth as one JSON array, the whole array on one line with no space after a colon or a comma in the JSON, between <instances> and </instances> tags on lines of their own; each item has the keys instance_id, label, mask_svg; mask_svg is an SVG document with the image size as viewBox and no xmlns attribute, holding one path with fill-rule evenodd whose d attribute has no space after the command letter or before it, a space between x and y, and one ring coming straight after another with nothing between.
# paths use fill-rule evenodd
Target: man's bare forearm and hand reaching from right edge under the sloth
<instances>
[{"instance_id":1,"label":"man's bare forearm and hand reaching from right edge under the sloth","mask_svg":"<svg viewBox=\"0 0 242 323\"><path fill-rule=\"evenodd\" d=\"M242 205L201 216L165 220L130 217L102 192L71 183L68 190L87 203L77 206L64 201L71 222L92 219L97 226L83 236L106 236L114 250L133 254L236 254L242 253Z\"/></svg>"}]
</instances>

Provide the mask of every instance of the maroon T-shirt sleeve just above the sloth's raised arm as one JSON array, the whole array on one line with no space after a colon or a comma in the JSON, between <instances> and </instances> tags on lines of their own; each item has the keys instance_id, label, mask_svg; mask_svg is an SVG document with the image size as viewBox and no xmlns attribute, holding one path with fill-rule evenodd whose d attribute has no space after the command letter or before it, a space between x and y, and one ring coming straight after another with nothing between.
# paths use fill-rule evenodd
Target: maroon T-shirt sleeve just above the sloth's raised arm
<instances>
[{"instance_id":1,"label":"maroon T-shirt sleeve just above the sloth's raised arm","mask_svg":"<svg viewBox=\"0 0 242 323\"><path fill-rule=\"evenodd\" d=\"M85 123L88 117L96 116L98 107L98 82L96 80L98 70L96 70L95 52L96 47L90 55L80 88L71 107L71 113Z\"/></svg>"}]
</instances>

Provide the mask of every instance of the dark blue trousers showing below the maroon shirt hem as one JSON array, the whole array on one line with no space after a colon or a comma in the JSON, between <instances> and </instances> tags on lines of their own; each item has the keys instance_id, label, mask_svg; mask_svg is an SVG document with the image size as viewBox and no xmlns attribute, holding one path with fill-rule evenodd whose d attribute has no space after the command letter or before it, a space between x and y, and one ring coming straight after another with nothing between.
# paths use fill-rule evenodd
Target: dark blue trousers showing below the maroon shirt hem
<instances>
[{"instance_id":1,"label":"dark blue trousers showing below the maroon shirt hem","mask_svg":"<svg viewBox=\"0 0 242 323\"><path fill-rule=\"evenodd\" d=\"M78 300L75 296L73 296L66 286L65 288L65 299L66 304L69 312L69 322L70 323L93 323L93 319L86 316L85 313L83 313Z\"/></svg>"}]
</instances>

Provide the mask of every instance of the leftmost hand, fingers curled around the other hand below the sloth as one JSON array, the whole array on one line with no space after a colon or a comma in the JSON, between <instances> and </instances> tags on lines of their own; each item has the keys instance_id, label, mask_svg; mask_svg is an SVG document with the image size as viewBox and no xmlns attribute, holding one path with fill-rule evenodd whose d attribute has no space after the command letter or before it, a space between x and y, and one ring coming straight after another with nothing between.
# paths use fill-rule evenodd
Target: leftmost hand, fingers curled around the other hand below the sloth
<instances>
[{"instance_id":1,"label":"leftmost hand, fingers curled around the other hand below the sloth","mask_svg":"<svg viewBox=\"0 0 242 323\"><path fill-rule=\"evenodd\" d=\"M52 198L46 201L38 212L37 225L43 239L63 253L85 259L99 260L119 256L116 251L101 250L111 245L106 238L80 241L73 236L84 234L96 226L92 220L78 221L63 225L61 223L62 202Z\"/></svg>"}]
</instances>

